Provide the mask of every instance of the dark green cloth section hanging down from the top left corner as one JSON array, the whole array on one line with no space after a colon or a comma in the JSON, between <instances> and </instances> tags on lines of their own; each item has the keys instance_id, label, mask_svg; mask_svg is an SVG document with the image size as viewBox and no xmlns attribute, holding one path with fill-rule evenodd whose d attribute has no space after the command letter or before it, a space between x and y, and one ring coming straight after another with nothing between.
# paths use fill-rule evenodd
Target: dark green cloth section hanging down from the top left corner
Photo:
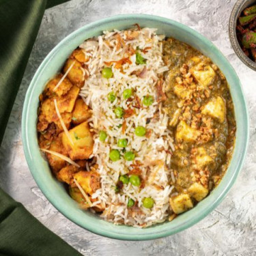
<instances>
[{"instance_id":1,"label":"dark green cloth section hanging down from the top left corner","mask_svg":"<svg viewBox=\"0 0 256 256\"><path fill-rule=\"evenodd\" d=\"M42 16L68 0L0 0L0 145Z\"/></svg>"}]
</instances>

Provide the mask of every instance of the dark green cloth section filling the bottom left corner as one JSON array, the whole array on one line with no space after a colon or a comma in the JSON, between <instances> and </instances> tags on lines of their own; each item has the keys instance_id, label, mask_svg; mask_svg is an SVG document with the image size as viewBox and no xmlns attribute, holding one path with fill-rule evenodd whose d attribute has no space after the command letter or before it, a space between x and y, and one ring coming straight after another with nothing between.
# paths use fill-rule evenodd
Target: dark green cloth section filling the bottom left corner
<instances>
[{"instance_id":1,"label":"dark green cloth section filling the bottom left corner","mask_svg":"<svg viewBox=\"0 0 256 256\"><path fill-rule=\"evenodd\" d=\"M0 189L0 253L15 256L81 255Z\"/></svg>"}]
</instances>

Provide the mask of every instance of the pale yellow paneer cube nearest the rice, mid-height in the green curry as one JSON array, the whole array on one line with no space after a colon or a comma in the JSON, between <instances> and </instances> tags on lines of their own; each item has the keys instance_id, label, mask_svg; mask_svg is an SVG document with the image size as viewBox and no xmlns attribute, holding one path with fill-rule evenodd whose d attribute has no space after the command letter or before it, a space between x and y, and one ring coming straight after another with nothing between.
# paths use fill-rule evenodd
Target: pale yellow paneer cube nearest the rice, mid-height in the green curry
<instances>
[{"instance_id":1,"label":"pale yellow paneer cube nearest the rice, mid-height in the green curry","mask_svg":"<svg viewBox=\"0 0 256 256\"><path fill-rule=\"evenodd\" d=\"M177 125L175 139L179 143L182 141L195 142L200 134L201 132L199 132L199 130L191 128L184 121L180 121L180 123Z\"/></svg>"}]
</instances>

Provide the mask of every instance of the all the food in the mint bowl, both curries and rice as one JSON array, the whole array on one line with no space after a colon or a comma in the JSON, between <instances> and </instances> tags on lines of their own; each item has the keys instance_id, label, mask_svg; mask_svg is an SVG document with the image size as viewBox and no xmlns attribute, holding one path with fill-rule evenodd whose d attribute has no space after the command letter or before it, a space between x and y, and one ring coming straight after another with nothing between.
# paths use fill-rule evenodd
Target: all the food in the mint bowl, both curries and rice
<instances>
[{"instance_id":1,"label":"all the food in the mint bowl, both curries and rice","mask_svg":"<svg viewBox=\"0 0 256 256\"><path fill-rule=\"evenodd\" d=\"M85 40L40 95L38 143L84 210L172 221L218 186L236 140L225 76L194 48L136 25Z\"/></svg>"}]
</instances>

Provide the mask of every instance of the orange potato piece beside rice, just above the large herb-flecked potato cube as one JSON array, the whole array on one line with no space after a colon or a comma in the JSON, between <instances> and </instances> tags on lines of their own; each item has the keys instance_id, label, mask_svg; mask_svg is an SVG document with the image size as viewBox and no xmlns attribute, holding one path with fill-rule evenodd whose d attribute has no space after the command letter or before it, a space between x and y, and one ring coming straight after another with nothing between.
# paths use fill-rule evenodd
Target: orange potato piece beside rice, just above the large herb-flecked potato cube
<instances>
[{"instance_id":1,"label":"orange potato piece beside rice, just above the large herb-flecked potato cube","mask_svg":"<svg viewBox=\"0 0 256 256\"><path fill-rule=\"evenodd\" d=\"M76 104L74 105L74 110L72 112L72 123L81 124L85 122L89 117L91 117L89 106L85 104L83 99L77 99Z\"/></svg>"}]
</instances>

